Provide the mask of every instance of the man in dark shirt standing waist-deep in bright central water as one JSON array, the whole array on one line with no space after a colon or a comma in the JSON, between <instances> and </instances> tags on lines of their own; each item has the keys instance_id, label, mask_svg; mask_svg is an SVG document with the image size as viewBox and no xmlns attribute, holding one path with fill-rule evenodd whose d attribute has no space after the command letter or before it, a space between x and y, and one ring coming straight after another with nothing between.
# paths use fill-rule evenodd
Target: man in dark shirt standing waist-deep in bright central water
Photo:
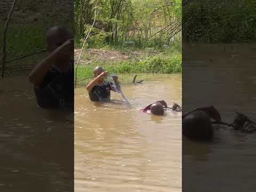
<instances>
[{"instance_id":1,"label":"man in dark shirt standing waist-deep in bright central water","mask_svg":"<svg viewBox=\"0 0 256 192\"><path fill-rule=\"evenodd\" d=\"M115 82L111 83L105 81L108 76L108 72L105 71L102 67L95 67L93 69L94 79L86 86L86 90L89 92L89 97L91 101L110 101L110 91L117 92L118 86L118 77L113 76L113 80Z\"/></svg>"}]
</instances>

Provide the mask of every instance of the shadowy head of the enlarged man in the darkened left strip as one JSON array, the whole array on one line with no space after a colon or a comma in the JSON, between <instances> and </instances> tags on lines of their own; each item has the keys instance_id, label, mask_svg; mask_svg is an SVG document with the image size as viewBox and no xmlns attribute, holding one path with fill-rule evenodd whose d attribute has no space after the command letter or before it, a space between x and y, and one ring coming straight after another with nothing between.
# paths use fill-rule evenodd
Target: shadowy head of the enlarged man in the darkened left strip
<instances>
[{"instance_id":1,"label":"shadowy head of the enlarged man in the darkened left strip","mask_svg":"<svg viewBox=\"0 0 256 192\"><path fill-rule=\"evenodd\" d=\"M71 30L65 26L54 26L47 30L46 33L46 43L47 51L53 52L68 39L73 39L74 35Z\"/></svg>"}]
</instances>

